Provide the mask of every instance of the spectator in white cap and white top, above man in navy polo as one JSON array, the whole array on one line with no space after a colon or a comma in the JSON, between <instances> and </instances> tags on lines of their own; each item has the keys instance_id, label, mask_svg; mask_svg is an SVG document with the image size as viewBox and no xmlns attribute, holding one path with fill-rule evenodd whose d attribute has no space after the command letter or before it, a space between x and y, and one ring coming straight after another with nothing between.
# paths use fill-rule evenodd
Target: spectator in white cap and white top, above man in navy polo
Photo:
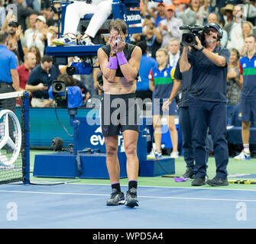
<instances>
[{"instance_id":1,"label":"spectator in white cap and white top, above man in navy polo","mask_svg":"<svg viewBox=\"0 0 256 244\"><path fill-rule=\"evenodd\" d=\"M38 47L41 56L44 56L44 49L47 47L47 25L46 19L43 15L39 15L36 18L36 30L28 34L27 46L28 49L32 46Z\"/></svg>"}]
</instances>

